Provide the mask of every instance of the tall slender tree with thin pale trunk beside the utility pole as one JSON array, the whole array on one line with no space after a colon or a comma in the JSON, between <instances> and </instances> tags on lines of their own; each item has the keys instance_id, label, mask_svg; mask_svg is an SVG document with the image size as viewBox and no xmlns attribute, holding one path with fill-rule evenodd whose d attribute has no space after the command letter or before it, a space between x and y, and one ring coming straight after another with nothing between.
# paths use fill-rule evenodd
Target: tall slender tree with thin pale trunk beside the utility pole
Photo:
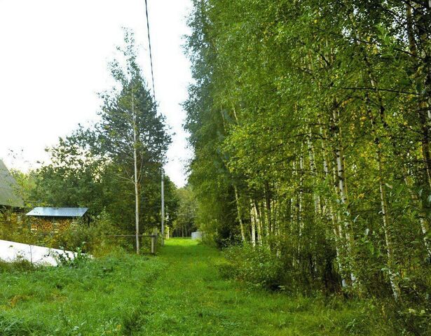
<instances>
[{"instance_id":1,"label":"tall slender tree with thin pale trunk beside the utility pole","mask_svg":"<svg viewBox=\"0 0 431 336\"><path fill-rule=\"evenodd\" d=\"M112 62L111 73L120 88L102 95L102 122L97 133L102 151L118 165L118 177L133 186L136 252L139 253L144 179L163 165L170 137L163 117L156 114L156 103L137 64L135 40L130 31L125 31L125 48L118 50L125 64Z\"/></svg>"}]
</instances>

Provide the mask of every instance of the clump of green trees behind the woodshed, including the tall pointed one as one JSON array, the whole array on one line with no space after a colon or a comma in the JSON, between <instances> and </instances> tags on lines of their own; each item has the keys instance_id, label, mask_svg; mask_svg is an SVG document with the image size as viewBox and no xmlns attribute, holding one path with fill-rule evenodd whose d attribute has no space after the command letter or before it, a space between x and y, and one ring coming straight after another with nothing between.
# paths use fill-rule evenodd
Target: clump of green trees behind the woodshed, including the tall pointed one
<instances>
[{"instance_id":1,"label":"clump of green trees behind the woodshed, including the tall pointed one","mask_svg":"<svg viewBox=\"0 0 431 336\"><path fill-rule=\"evenodd\" d=\"M88 214L93 216L105 211L118 230L132 233L136 151L140 230L148 232L160 223L160 171L171 137L136 60L137 48L130 31L125 31L125 45L118 52L120 57L110 64L116 86L100 94L100 121L88 128L78 127L47 149L50 162L28 175L34 183L27 192L28 203L88 207ZM28 184L23 183L23 188ZM165 177L168 225L175 219L175 189Z\"/></svg>"}]
</instances>

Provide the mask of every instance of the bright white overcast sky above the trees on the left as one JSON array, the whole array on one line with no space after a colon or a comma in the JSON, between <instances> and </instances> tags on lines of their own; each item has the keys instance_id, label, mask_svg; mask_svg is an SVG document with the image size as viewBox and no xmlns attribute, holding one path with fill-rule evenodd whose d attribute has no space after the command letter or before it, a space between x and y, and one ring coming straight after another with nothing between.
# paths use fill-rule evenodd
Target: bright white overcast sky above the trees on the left
<instances>
[{"instance_id":1,"label":"bright white overcast sky above the trees on the left","mask_svg":"<svg viewBox=\"0 0 431 336\"><path fill-rule=\"evenodd\" d=\"M182 53L190 0L148 0L156 99L175 132L167 174L184 186L191 158L182 130L191 81ZM44 148L97 120L97 92L112 86L108 62L135 31L151 85L144 0L0 0L0 158L18 169L48 160ZM13 151L15 154L11 154Z\"/></svg>"}]
</instances>

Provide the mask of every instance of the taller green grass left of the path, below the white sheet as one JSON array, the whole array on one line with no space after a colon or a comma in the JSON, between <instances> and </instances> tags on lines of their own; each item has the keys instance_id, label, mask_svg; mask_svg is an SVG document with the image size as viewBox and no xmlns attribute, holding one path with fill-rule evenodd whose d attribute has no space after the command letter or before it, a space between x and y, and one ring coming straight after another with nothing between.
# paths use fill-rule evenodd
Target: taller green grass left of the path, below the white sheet
<instances>
[{"instance_id":1,"label":"taller green grass left of the path, below the white sheet","mask_svg":"<svg viewBox=\"0 0 431 336\"><path fill-rule=\"evenodd\" d=\"M135 255L0 274L0 335L127 335L166 265Z\"/></svg>"}]
</instances>

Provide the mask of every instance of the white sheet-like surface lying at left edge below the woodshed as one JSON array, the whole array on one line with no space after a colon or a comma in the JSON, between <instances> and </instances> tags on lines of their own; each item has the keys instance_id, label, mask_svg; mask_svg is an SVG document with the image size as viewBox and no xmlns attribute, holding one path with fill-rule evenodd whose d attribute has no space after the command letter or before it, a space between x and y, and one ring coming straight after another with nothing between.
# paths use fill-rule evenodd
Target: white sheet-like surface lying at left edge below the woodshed
<instances>
[{"instance_id":1,"label":"white sheet-like surface lying at left edge below the woodshed","mask_svg":"<svg viewBox=\"0 0 431 336\"><path fill-rule=\"evenodd\" d=\"M0 240L0 259L7 262L25 259L38 265L57 266L55 255L58 254L70 259L75 258L75 253L71 251Z\"/></svg>"}]
</instances>

